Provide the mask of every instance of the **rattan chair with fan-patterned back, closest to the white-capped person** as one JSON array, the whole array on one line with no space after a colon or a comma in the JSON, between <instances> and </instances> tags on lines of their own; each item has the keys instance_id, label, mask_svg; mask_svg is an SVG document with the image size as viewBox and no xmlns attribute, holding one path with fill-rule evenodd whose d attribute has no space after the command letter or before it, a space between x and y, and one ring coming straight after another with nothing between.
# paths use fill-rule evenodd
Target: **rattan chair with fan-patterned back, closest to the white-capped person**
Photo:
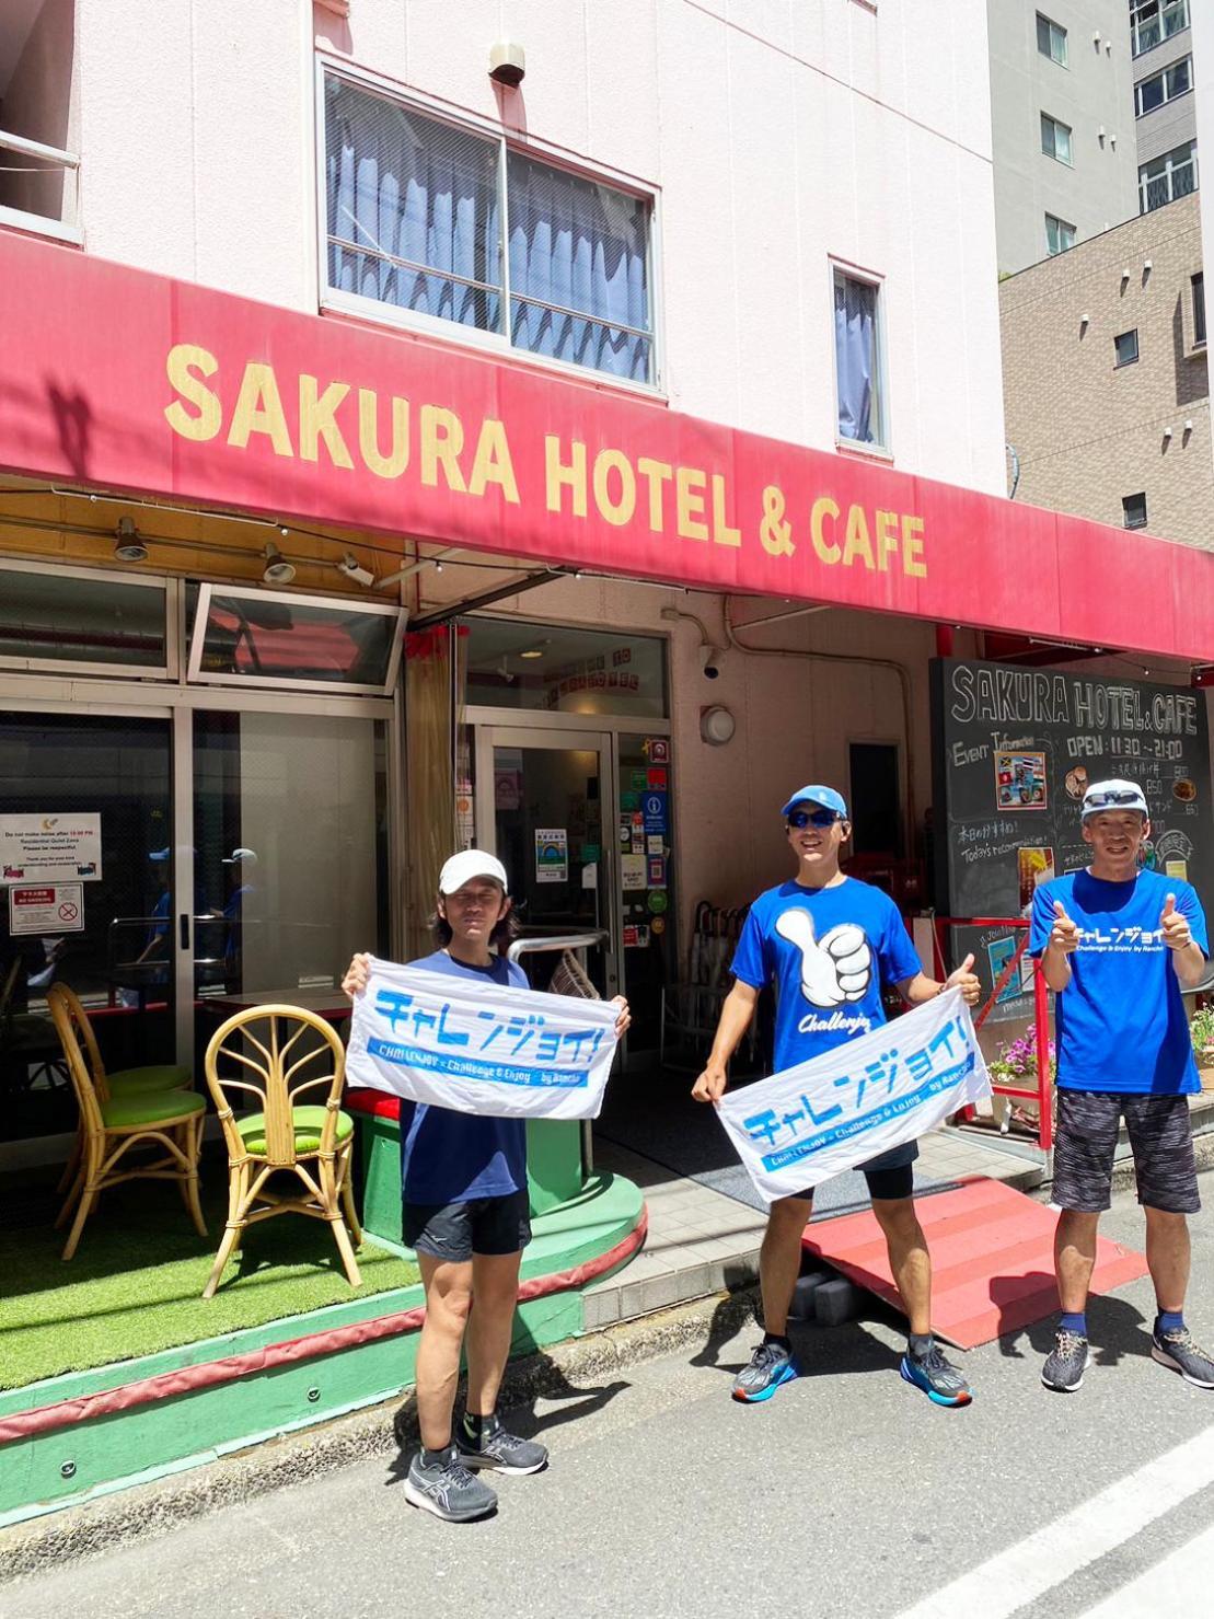
<instances>
[{"instance_id":1,"label":"rattan chair with fan-patterned back, closest to the white-capped person","mask_svg":"<svg viewBox=\"0 0 1214 1619\"><path fill-rule=\"evenodd\" d=\"M354 1248L363 1230L350 1185L354 1122L340 1111L345 1051L337 1033L303 1007L249 1007L210 1036L206 1073L228 1143L230 1179L228 1222L202 1297L210 1298L219 1287L246 1226L290 1213L329 1221L346 1279L358 1287ZM322 1093L322 1099L299 1106L306 1091ZM257 1111L236 1117L233 1099L241 1093ZM303 1195L283 1196L265 1185L282 1169L295 1171Z\"/></svg>"}]
</instances>

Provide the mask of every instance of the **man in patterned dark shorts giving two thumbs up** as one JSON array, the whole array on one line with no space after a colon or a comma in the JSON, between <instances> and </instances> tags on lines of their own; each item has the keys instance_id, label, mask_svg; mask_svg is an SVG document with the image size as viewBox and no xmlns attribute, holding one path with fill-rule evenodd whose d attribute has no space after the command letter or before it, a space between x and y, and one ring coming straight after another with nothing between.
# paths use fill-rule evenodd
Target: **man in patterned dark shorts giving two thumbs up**
<instances>
[{"instance_id":1,"label":"man in patterned dark shorts giving two thumbs up","mask_svg":"<svg viewBox=\"0 0 1214 1619\"><path fill-rule=\"evenodd\" d=\"M1062 1315L1041 1381L1073 1394L1088 1370L1096 1227L1110 1203L1125 1119L1156 1289L1151 1353L1186 1383L1214 1389L1214 1357L1185 1326L1188 1216L1201 1208L1188 1096L1201 1081L1182 991L1206 973L1206 915L1188 882L1140 868L1151 821L1138 782L1094 782L1080 826L1091 865L1041 884L1029 937L1057 996L1059 1047L1054 1268Z\"/></svg>"}]
</instances>

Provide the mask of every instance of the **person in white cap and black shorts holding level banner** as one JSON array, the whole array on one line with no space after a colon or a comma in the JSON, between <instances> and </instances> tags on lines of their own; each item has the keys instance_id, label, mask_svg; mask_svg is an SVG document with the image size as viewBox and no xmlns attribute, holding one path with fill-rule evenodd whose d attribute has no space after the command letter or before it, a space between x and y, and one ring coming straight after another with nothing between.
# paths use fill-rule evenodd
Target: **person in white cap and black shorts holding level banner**
<instances>
[{"instance_id":1,"label":"person in white cap and black shorts holding level banner","mask_svg":"<svg viewBox=\"0 0 1214 1619\"><path fill-rule=\"evenodd\" d=\"M431 929L437 949L413 967L465 983L526 989L521 967L502 954L513 936L505 866L466 848L439 874ZM369 955L356 955L342 981L363 994ZM617 996L615 1033L628 1028ZM426 1290L418 1342L421 1451L410 1462L405 1496L435 1517L461 1523L492 1512L497 1496L481 1468L537 1473L547 1451L508 1433L497 1418L523 1248L531 1240L526 1120L487 1119L400 1104L403 1235L416 1251ZM468 1400L453 1428L460 1353L468 1355Z\"/></svg>"}]
</instances>

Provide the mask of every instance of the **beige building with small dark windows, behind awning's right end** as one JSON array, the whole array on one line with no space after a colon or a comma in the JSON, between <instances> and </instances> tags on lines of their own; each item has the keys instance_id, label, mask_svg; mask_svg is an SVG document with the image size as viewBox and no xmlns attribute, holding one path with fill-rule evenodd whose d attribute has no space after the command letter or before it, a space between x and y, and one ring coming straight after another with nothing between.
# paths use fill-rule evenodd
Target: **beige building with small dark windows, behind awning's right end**
<instances>
[{"instance_id":1,"label":"beige building with small dark windows, behind awning's right end","mask_svg":"<svg viewBox=\"0 0 1214 1619\"><path fill-rule=\"evenodd\" d=\"M1214 549L1198 198L1021 270L999 304L1017 499Z\"/></svg>"}]
</instances>

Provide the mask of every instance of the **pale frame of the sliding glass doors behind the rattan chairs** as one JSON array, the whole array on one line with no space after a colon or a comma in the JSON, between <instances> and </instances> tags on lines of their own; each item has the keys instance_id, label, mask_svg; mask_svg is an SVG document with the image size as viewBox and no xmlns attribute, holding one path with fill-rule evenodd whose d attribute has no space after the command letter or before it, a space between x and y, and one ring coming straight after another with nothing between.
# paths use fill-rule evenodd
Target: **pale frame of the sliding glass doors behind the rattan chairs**
<instances>
[{"instance_id":1,"label":"pale frame of the sliding glass doors behind the rattan chairs","mask_svg":"<svg viewBox=\"0 0 1214 1619\"><path fill-rule=\"evenodd\" d=\"M170 727L170 792L173 813L173 894L172 918L173 1005L176 1017L176 1060L194 1062L194 929L181 945L181 895L194 892L194 725L196 711L330 716L371 719L385 724L387 811L388 811L388 920L390 947L398 952L405 920L397 897L403 894L405 847L403 813L403 720L400 691L390 698L325 696L233 690L231 686L185 686L176 682L89 680L73 675L0 672L0 712L71 714L99 719L160 719Z\"/></svg>"}]
</instances>

